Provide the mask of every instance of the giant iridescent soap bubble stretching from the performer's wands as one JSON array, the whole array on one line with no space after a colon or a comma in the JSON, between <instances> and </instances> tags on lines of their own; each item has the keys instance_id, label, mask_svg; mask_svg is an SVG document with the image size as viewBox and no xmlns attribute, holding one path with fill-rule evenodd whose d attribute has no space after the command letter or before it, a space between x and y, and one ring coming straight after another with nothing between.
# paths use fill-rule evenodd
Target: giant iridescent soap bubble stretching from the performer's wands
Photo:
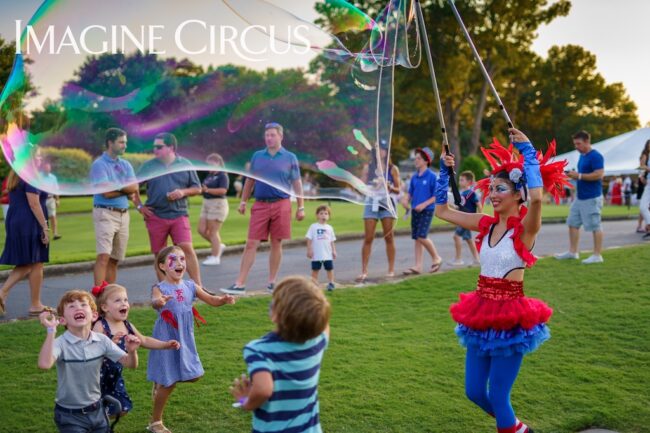
<instances>
[{"instance_id":1,"label":"giant iridescent soap bubble stretching from the performer's wands","mask_svg":"<svg viewBox=\"0 0 650 433\"><path fill-rule=\"evenodd\" d=\"M219 153L225 171L272 183L246 162L277 122L320 184L314 198L381 199L394 69L419 62L412 5L390 0L375 17L343 0L314 8L301 18L270 0L45 1L23 25L0 95L6 159L51 193L106 192L124 185L96 184L90 164L118 127L136 174L155 135L170 132L189 161L176 170L214 170L206 158ZM36 148L58 189L32 163Z\"/></svg>"}]
</instances>

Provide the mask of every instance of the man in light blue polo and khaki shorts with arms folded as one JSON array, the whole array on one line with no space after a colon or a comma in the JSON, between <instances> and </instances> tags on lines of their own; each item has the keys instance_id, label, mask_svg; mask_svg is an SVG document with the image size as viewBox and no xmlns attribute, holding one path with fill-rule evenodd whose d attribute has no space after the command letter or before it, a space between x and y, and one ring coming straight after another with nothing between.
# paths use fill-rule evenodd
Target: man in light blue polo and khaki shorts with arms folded
<instances>
[{"instance_id":1,"label":"man in light blue polo and khaki shorts with arms folded","mask_svg":"<svg viewBox=\"0 0 650 433\"><path fill-rule=\"evenodd\" d=\"M129 241L129 196L138 190L131 163L123 158L126 132L118 128L106 131L106 151L90 167L90 179L96 189L110 191L93 196L95 226L95 286L102 281L114 283L117 264L126 256ZM118 189L115 189L118 188Z\"/></svg>"}]
</instances>

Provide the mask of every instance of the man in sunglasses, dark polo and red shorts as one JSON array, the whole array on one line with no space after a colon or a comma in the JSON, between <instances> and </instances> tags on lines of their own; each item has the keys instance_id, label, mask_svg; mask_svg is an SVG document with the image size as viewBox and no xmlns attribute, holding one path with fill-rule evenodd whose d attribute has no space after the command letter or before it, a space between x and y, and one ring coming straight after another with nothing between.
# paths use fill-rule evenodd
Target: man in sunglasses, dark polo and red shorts
<instances>
[{"instance_id":1,"label":"man in sunglasses, dark polo and red shorts","mask_svg":"<svg viewBox=\"0 0 650 433\"><path fill-rule=\"evenodd\" d=\"M187 273L202 286L199 259L192 245L192 228L188 199L201 194L201 182L192 163L178 155L178 141L173 134L162 132L154 137L155 158L142 164L138 179L146 179L147 202L143 205L136 193L133 203L144 218L151 252L157 255L167 246L167 238L185 253ZM158 281L164 275L156 268Z\"/></svg>"}]
</instances>

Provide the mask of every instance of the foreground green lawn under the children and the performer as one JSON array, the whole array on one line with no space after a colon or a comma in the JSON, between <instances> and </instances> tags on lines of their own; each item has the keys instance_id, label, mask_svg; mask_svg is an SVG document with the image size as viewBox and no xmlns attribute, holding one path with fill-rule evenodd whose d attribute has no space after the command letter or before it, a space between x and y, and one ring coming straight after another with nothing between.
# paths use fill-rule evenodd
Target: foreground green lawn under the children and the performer
<instances>
[{"instance_id":1,"label":"foreground green lawn under the children and the performer","mask_svg":"<svg viewBox=\"0 0 650 433\"><path fill-rule=\"evenodd\" d=\"M513 390L517 415L537 433L602 427L648 432L650 425L650 248L605 253L602 265L541 260L526 290L554 308L553 337L525 358ZM493 432L494 421L464 396L464 350L448 308L471 290L475 269L395 284L337 290L332 340L323 361L320 400L330 433ZM228 386L245 369L241 349L270 329L268 297L199 309L196 330L205 377L172 395L166 424L175 432L250 431L250 414L230 407ZM130 320L150 332L155 313L134 309ZM45 330L36 321L0 325L0 432L54 431L56 373L39 371ZM151 410L147 351L126 372L135 403L117 431L144 431Z\"/></svg>"}]
</instances>

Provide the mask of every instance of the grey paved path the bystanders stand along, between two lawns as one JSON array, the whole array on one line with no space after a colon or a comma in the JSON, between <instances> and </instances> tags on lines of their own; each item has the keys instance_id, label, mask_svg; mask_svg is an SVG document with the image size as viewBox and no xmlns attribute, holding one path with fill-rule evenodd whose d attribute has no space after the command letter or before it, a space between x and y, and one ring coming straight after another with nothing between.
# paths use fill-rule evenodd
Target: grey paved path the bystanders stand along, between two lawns
<instances>
[{"instance_id":1,"label":"grey paved path the bystanders stand along, between two lawns","mask_svg":"<svg viewBox=\"0 0 650 433\"><path fill-rule=\"evenodd\" d=\"M635 220L607 221L604 223L606 248L616 248L626 245L643 243L641 236L634 232ZM334 226L336 229L336 226ZM438 248L439 254L443 257L445 264L441 272L454 269L446 262L451 261L454 255L452 232L433 233L430 238ZM373 254L370 260L369 284L380 282L399 281L402 278L402 271L412 265L413 241L408 236L396 238L397 278L387 279L386 255L382 239L376 239L373 245ZM587 251L592 246L590 234L584 234L580 241L580 249ZM556 252L565 251L568 247L568 230L564 224L545 224L535 245L535 253L539 256L548 256ZM354 285L354 278L359 274L361 268L361 241L348 240L337 242L338 258L335 262L335 275L339 284ZM464 260L471 263L471 256L467 246L463 246ZM583 255L586 257L586 255ZM222 258L220 266L202 266L201 272L203 282L209 289L227 287L235 281L239 271L240 255L227 255ZM430 262L425 261L428 267ZM581 265L576 262L576 266ZM598 266L598 265L590 265ZM478 269L477 269L478 273ZM306 257L306 247L287 248L284 251L280 277L292 274L309 275L309 261ZM262 251L257 255L257 260L250 274L247 288L251 294L265 293L268 277L268 252ZM48 276L45 278L42 290L42 300L46 305L56 306L61 295L69 289L92 287L92 272L75 273L61 276ZM155 275L152 263L147 266L131 267L121 269L118 281L129 290L129 300L133 304L148 302L150 299L151 285L155 282ZM321 282L325 282L324 271L321 271ZM2 319L13 320L26 315L29 307L29 287L25 281L17 284L7 300L7 314Z\"/></svg>"}]
</instances>

